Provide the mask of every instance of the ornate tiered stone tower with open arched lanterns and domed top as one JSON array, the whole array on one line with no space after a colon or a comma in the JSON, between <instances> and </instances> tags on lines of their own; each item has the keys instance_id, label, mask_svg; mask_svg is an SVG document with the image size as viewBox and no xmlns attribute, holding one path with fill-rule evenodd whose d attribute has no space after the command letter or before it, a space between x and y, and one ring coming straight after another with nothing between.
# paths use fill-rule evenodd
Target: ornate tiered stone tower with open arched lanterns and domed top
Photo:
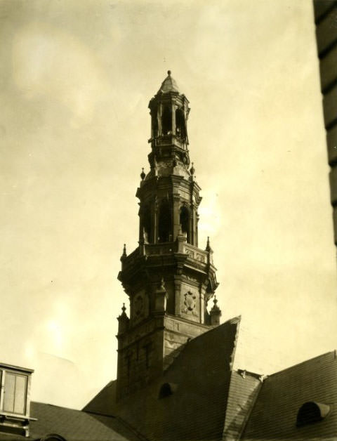
<instances>
[{"instance_id":1,"label":"ornate tiered stone tower with open arched lanterns and domed top","mask_svg":"<svg viewBox=\"0 0 337 441\"><path fill-rule=\"evenodd\" d=\"M183 345L220 323L213 251L198 247L200 187L190 166L188 100L168 72L150 100L150 172L140 175L139 246L121 256L130 300L118 317L117 399L161 375Z\"/></svg>"}]
</instances>

